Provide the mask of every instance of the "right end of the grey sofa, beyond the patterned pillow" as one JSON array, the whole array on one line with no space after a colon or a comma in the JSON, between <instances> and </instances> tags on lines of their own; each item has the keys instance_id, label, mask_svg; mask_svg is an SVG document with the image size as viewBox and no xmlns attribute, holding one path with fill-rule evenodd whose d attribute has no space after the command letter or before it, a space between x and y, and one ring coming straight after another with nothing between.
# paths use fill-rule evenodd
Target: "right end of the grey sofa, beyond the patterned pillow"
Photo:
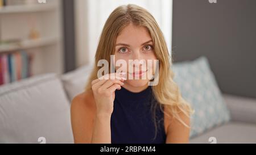
<instances>
[{"instance_id":1,"label":"right end of the grey sofa, beyond the patterned pillow","mask_svg":"<svg viewBox=\"0 0 256 155\"><path fill-rule=\"evenodd\" d=\"M256 143L256 99L228 94L223 97L231 121L194 137L190 143L210 143L210 137L216 137L217 143Z\"/></svg>"}]
</instances>

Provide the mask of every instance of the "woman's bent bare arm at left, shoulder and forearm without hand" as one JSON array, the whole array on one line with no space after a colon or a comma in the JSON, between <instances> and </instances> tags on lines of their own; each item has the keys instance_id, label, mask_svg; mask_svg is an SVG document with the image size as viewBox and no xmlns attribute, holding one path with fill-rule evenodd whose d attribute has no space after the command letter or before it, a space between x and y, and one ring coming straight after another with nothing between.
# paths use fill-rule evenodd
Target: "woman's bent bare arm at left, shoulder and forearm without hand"
<instances>
[{"instance_id":1,"label":"woman's bent bare arm at left, shoulder and forearm without hand","mask_svg":"<svg viewBox=\"0 0 256 155\"><path fill-rule=\"evenodd\" d=\"M75 143L111 143L109 115L97 115L92 94L72 100L71 122Z\"/></svg>"}]
</instances>

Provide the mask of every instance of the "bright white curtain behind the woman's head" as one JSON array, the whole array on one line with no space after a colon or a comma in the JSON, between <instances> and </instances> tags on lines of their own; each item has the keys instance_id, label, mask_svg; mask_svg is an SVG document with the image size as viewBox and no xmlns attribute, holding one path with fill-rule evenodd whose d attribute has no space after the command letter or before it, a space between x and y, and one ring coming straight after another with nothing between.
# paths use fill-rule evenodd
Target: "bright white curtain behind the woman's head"
<instances>
[{"instance_id":1,"label":"bright white curtain behind the woman's head","mask_svg":"<svg viewBox=\"0 0 256 155\"><path fill-rule=\"evenodd\" d=\"M86 56L89 57L89 63L94 60L93 57L97 49L98 40L108 16L116 7L120 5L127 5L129 3L144 7L154 16L156 22L158 22L164 33L164 37L170 51L172 36L172 0L87 0L86 3L80 3L77 5L87 5L84 8L86 8L87 16L85 22L87 26L85 27L88 28L88 39L86 39L88 41L88 47L86 48ZM78 7L80 9L82 8L81 6ZM77 30L77 35L81 35L79 32L80 31Z\"/></svg>"}]
</instances>

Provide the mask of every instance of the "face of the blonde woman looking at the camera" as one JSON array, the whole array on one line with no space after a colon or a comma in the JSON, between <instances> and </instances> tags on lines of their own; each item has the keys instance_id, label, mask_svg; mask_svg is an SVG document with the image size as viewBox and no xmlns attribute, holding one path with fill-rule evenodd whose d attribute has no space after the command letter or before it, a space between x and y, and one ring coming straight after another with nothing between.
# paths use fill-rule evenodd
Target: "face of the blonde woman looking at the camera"
<instances>
[{"instance_id":1,"label":"face of the blonde woman looking at the camera","mask_svg":"<svg viewBox=\"0 0 256 155\"><path fill-rule=\"evenodd\" d=\"M115 66L115 70L122 70L126 73L125 85L143 87L148 84L152 78L148 74L154 73L156 56L151 36L145 27L135 26L131 23L123 28L117 36L115 44L115 62L118 60L126 61L127 64L126 66Z\"/></svg>"}]
</instances>

